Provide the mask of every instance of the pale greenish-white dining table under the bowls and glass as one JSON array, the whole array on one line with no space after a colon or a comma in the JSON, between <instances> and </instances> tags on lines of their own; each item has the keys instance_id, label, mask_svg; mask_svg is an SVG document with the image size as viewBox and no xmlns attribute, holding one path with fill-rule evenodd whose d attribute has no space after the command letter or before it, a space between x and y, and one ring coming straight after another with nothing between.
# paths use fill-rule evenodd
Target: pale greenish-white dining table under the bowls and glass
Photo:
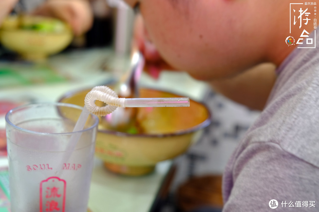
<instances>
[{"instance_id":1,"label":"pale greenish-white dining table under the bowls and glass","mask_svg":"<svg viewBox=\"0 0 319 212\"><path fill-rule=\"evenodd\" d=\"M4 116L12 107L58 101L68 92L114 82L125 72L128 60L116 55L111 47L64 51L40 64L0 57L0 132L5 131ZM164 89L198 101L207 89L205 83L185 72L168 71L158 79L142 73L139 86ZM0 171L6 168L8 159L0 155ZM92 212L156 211L175 168L174 160L161 161L152 173L132 177L112 173L94 158L88 207ZM0 177L1 188L8 189L8 175L1 176L6 176ZM0 203L0 211L5 208Z\"/></svg>"}]
</instances>

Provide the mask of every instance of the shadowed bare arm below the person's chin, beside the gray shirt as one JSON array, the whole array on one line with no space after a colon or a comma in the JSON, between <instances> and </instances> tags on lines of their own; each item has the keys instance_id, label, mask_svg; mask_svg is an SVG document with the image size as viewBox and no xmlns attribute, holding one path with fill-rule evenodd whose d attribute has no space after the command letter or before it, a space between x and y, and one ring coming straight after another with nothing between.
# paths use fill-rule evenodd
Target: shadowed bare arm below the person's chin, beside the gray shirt
<instances>
[{"instance_id":1,"label":"shadowed bare arm below the person's chin, beside the gray shirt","mask_svg":"<svg viewBox=\"0 0 319 212\"><path fill-rule=\"evenodd\" d=\"M230 79L211 82L215 91L251 109L262 110L276 81L275 65L264 63Z\"/></svg>"}]
</instances>

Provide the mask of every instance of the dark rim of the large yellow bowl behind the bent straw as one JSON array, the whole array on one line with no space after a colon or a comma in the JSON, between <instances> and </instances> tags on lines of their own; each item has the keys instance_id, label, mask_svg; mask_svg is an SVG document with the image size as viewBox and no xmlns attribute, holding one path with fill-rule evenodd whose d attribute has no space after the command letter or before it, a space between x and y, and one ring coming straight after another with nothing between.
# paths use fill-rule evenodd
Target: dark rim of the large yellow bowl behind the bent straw
<instances>
[{"instance_id":1,"label":"dark rim of the large yellow bowl behind the bent straw","mask_svg":"<svg viewBox=\"0 0 319 212\"><path fill-rule=\"evenodd\" d=\"M106 86L108 85L112 85L112 83L106 84ZM171 92L168 91L166 89L161 89L161 88L155 88L155 87L151 87L151 86L141 86L139 87L139 89L149 89L149 90L154 90L154 91L161 91L161 92L166 92L166 93L171 93L174 95L179 95L179 96L183 96L178 94L177 92ZM86 89L76 89L73 91L69 91L66 92L65 94L63 94L59 99L58 102L61 102L63 99L68 98L72 95L74 95L75 93L79 93L85 90L89 90L92 89L92 87L90 88L86 88ZM207 118L201 122L198 125L195 125L193 127L187 128L186 130L178 130L175 133L163 133L163 134L131 134L131 133L124 133L124 132L117 132L117 131L113 131L113 130L100 130L98 128L98 132L102 132L102 133L107 133L107 134L111 134L111 135L116 135L116 136L121 136L121 137L141 137L141 138L162 138L162 137L172 137L172 136L178 136L178 135L185 135L185 134L189 134L189 133L194 133L200 129L204 129L205 127L208 127L211 124L211 120L212 120L212 113L211 110L209 109L209 107L207 106L207 104L205 104L203 101L196 101L194 99L189 98L190 100L197 102L198 104L202 105L205 107L208 116Z\"/></svg>"}]
</instances>

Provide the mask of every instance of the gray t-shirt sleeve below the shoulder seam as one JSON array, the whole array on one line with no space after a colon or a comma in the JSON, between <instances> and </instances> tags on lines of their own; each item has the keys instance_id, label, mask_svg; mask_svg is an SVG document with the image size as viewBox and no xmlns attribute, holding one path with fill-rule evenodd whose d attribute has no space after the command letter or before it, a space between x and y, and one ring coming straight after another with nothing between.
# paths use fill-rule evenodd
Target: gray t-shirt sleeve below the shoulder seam
<instances>
[{"instance_id":1,"label":"gray t-shirt sleeve below the shoulder seam","mask_svg":"<svg viewBox=\"0 0 319 212\"><path fill-rule=\"evenodd\" d=\"M272 211L273 199L278 201L273 211L310 211L296 207L297 201L318 201L319 168L275 143L250 144L225 174L223 186L229 194L224 193L223 212Z\"/></svg>"}]
</instances>

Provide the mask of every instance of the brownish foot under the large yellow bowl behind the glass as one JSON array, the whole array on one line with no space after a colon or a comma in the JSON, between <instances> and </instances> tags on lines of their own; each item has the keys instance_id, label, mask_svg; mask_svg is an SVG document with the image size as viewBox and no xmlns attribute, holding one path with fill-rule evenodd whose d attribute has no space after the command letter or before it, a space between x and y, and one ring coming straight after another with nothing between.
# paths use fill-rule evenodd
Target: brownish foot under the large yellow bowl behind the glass
<instances>
[{"instance_id":1,"label":"brownish foot under the large yellow bowl behind the glass","mask_svg":"<svg viewBox=\"0 0 319 212\"><path fill-rule=\"evenodd\" d=\"M128 176L140 176L149 174L150 172L154 171L155 168L155 166L125 166L108 162L104 162L103 164L104 167L106 167L111 172Z\"/></svg>"}]
</instances>

